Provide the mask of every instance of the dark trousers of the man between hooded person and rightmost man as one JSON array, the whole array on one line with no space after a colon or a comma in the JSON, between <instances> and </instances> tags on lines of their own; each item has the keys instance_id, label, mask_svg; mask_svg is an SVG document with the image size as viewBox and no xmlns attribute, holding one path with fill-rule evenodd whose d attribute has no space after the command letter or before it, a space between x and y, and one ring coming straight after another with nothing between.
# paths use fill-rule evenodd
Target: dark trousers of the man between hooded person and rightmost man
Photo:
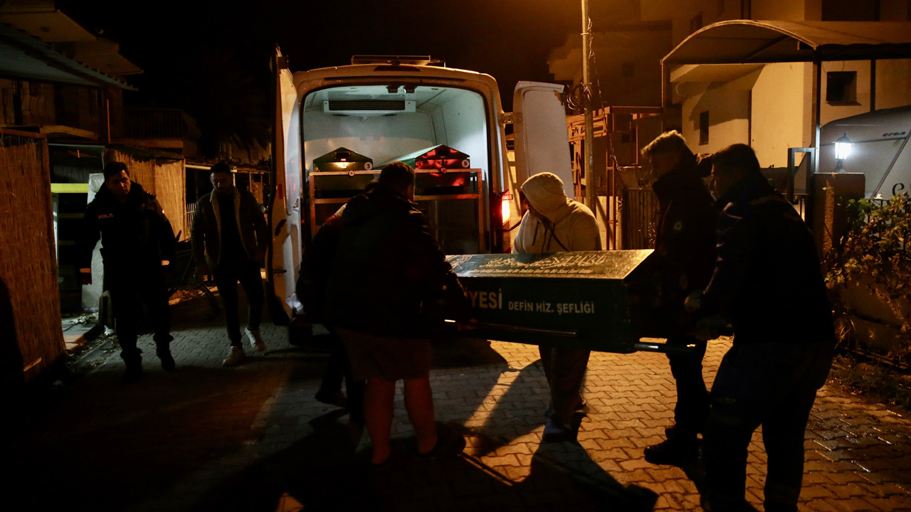
<instances>
[{"instance_id":1,"label":"dark trousers of the man between hooded person and rightmost man","mask_svg":"<svg viewBox=\"0 0 911 512\"><path fill-rule=\"evenodd\" d=\"M677 405L674 406L674 437L683 442L696 441L709 417L709 392L702 378L702 358L706 342L691 336L668 339L669 345L696 345L687 353L668 353L670 374L677 384Z\"/></svg>"}]
</instances>

